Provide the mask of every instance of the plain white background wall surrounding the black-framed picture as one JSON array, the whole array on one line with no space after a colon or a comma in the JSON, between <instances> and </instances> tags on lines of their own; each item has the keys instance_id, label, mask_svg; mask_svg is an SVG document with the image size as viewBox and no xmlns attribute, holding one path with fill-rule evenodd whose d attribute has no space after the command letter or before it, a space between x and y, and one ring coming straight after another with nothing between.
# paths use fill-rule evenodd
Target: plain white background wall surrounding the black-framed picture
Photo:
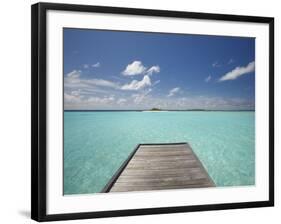
<instances>
[{"instance_id":1,"label":"plain white background wall surrounding the black-framed picture","mask_svg":"<svg viewBox=\"0 0 281 224\"><path fill-rule=\"evenodd\" d=\"M1 1L0 6L0 223L30 220L30 5L36 1ZM149 215L60 223L278 223L280 190L280 6L250 0L60 0L62 3L138 7L275 17L275 180L274 208ZM280 221L279 221L280 222Z\"/></svg>"}]
</instances>

